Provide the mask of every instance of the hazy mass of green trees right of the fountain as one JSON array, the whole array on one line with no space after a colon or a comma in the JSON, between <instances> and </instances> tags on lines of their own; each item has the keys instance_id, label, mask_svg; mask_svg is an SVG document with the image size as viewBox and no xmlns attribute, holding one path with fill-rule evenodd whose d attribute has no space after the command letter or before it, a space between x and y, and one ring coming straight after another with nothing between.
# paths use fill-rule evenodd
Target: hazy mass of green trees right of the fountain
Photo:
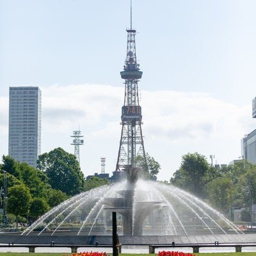
<instances>
[{"instance_id":1,"label":"hazy mass of green trees right of the fountain","mask_svg":"<svg viewBox=\"0 0 256 256\"><path fill-rule=\"evenodd\" d=\"M227 166L211 166L197 152L182 156L170 184L201 198L232 219L234 209L244 208L243 221L250 221L251 202L256 203L256 165L245 159Z\"/></svg>"}]
</instances>

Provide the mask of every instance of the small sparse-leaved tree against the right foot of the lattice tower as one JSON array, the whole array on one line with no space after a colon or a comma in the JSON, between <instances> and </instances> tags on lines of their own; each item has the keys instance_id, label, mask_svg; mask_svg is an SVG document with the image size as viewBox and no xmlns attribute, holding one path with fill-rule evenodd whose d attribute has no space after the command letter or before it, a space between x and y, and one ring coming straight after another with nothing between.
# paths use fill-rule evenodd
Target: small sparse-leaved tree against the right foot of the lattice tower
<instances>
[{"instance_id":1,"label":"small sparse-leaved tree against the right foot of the lattice tower","mask_svg":"<svg viewBox=\"0 0 256 256\"><path fill-rule=\"evenodd\" d=\"M159 170L161 170L161 166L154 157L150 157L149 154L146 153L145 156L137 156L135 162L140 164L146 178L152 180L157 179L157 174Z\"/></svg>"}]
</instances>

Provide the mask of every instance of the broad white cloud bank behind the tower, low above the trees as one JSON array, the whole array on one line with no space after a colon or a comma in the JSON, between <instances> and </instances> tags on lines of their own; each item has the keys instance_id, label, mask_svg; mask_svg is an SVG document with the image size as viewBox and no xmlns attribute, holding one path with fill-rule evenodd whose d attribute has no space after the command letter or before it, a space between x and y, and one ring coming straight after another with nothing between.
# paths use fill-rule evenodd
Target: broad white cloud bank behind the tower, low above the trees
<instances>
[{"instance_id":1,"label":"broad white cloud bank behind the tower, low above the trees","mask_svg":"<svg viewBox=\"0 0 256 256\"><path fill-rule=\"evenodd\" d=\"M120 141L120 116L124 88L100 84L52 85L42 90L42 153L56 147L74 152L72 131L81 129L81 167L86 175L100 172L100 157L106 170L115 170ZM170 179L188 152L228 163L240 154L240 140L251 132L254 120L250 106L238 107L207 93L171 90L142 91L141 108L145 150L162 166L159 179ZM8 148L8 99L0 99L1 155ZM4 140L3 140L4 139ZM2 143L1 143L2 144Z\"/></svg>"}]
</instances>

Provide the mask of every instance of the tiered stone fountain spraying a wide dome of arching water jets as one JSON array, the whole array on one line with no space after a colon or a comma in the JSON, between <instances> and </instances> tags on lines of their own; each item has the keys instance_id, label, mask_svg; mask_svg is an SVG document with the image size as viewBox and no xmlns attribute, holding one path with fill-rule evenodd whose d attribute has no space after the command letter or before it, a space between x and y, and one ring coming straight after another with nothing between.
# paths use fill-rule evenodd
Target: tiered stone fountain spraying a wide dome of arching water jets
<instances>
[{"instance_id":1,"label":"tiered stone fountain spraying a wide dome of arching water jets","mask_svg":"<svg viewBox=\"0 0 256 256\"><path fill-rule=\"evenodd\" d=\"M112 212L124 236L243 234L220 212L175 186L143 180L127 166L127 180L76 195L51 209L22 233L111 236Z\"/></svg>"}]
</instances>

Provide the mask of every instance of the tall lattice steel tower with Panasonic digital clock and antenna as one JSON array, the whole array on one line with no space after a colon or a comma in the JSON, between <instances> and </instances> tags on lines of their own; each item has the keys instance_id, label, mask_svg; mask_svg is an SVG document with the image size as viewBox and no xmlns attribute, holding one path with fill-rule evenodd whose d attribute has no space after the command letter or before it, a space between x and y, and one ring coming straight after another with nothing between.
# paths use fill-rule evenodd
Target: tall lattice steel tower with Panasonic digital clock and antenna
<instances>
[{"instance_id":1,"label":"tall lattice steel tower with Panasonic digital clock and antenna","mask_svg":"<svg viewBox=\"0 0 256 256\"><path fill-rule=\"evenodd\" d=\"M141 130L142 115L138 95L138 81L142 76L140 65L136 60L135 35L132 29L132 3L131 3L131 27L127 31L127 51L124 71L120 72L125 79L124 106L122 106L122 132L116 171L120 171L127 165L134 166L137 156L145 156L143 136Z\"/></svg>"}]
</instances>

